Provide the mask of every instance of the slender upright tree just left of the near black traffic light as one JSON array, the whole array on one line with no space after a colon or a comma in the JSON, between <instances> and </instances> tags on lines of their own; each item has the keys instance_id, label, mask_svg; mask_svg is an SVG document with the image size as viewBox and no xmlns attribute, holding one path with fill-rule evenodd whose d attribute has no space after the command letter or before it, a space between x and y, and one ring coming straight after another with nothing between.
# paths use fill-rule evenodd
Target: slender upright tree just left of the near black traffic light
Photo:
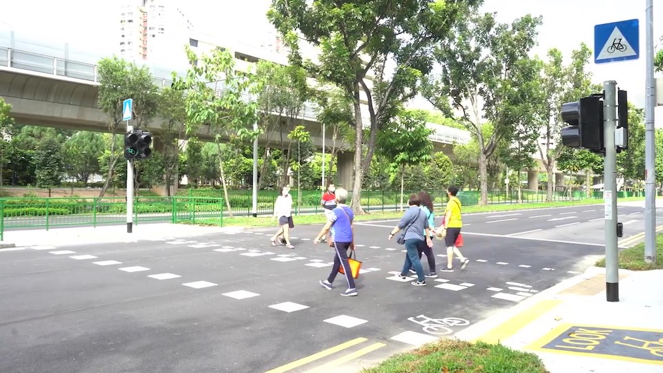
<instances>
[{"instance_id":1,"label":"slender upright tree just left of the near black traffic light","mask_svg":"<svg viewBox=\"0 0 663 373\"><path fill-rule=\"evenodd\" d=\"M548 173L548 201L553 200L554 170L565 148L561 144L561 128L565 126L561 121L561 104L590 94L591 73L586 67L591 55L591 50L582 43L571 53L570 64L564 66L561 52L556 48L548 50L542 89L545 104L541 106L541 141L538 145L541 160Z\"/></svg>"}]
</instances>

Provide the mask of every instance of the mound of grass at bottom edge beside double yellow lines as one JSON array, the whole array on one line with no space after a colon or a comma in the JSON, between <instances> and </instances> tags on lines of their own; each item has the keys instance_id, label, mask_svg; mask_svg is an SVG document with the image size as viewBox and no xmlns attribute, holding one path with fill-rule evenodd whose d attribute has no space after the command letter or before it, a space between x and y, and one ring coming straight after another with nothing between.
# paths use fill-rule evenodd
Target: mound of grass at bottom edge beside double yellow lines
<instances>
[{"instance_id":1,"label":"mound of grass at bottom edge beside double yellow lines","mask_svg":"<svg viewBox=\"0 0 663 373\"><path fill-rule=\"evenodd\" d=\"M363 373L544 373L539 356L503 345L443 339L387 358Z\"/></svg>"}]
</instances>

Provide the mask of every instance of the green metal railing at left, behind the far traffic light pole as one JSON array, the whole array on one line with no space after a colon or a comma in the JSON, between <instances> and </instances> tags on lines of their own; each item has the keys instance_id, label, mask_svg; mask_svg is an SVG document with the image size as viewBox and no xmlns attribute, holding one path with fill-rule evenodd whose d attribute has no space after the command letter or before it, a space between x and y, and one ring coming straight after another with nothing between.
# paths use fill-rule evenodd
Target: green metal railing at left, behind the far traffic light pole
<instances>
[{"instance_id":1,"label":"green metal railing at left, behind the far traffic light pole","mask_svg":"<svg viewBox=\"0 0 663 373\"><path fill-rule=\"evenodd\" d=\"M223 223L223 198L135 197L133 222L182 222L205 220ZM122 224L126 222L126 198L0 198L0 240L4 231Z\"/></svg>"}]
</instances>

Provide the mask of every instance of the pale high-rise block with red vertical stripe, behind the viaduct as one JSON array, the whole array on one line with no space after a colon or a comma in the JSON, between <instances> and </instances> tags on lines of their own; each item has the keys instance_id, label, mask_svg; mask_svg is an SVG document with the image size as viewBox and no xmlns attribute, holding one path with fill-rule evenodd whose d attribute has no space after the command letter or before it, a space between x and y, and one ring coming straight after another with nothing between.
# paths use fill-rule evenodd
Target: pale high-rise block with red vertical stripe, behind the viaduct
<instances>
[{"instance_id":1,"label":"pale high-rise block with red vertical stripe, behind the viaduct","mask_svg":"<svg viewBox=\"0 0 663 373\"><path fill-rule=\"evenodd\" d=\"M125 0L120 10L119 56L129 61L168 58L193 28L173 0Z\"/></svg>"}]
</instances>

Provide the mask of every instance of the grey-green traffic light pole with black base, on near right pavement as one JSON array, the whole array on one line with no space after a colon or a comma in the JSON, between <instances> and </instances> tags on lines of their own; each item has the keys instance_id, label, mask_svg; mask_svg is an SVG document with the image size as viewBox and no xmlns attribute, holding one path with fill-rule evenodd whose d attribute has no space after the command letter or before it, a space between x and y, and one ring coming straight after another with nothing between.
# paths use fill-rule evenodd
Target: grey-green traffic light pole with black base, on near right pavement
<instances>
[{"instance_id":1,"label":"grey-green traffic light pole with black base, on near right pavement","mask_svg":"<svg viewBox=\"0 0 663 373\"><path fill-rule=\"evenodd\" d=\"M603 83L603 135L606 157L603 164L606 234L606 298L619 302L619 269L617 263L617 82Z\"/></svg>"}]
</instances>

